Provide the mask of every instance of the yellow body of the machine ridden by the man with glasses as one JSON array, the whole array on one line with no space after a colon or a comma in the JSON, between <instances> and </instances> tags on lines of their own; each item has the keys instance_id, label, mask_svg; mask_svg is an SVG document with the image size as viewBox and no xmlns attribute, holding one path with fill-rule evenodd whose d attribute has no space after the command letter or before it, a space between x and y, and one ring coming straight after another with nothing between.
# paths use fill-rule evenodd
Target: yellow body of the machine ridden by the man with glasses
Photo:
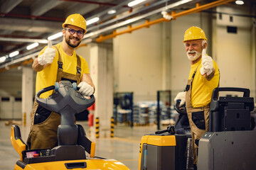
<instances>
[{"instance_id":1,"label":"yellow body of the machine ridden by the man with glasses","mask_svg":"<svg viewBox=\"0 0 256 170\"><path fill-rule=\"evenodd\" d=\"M104 159L95 157L95 142L90 145L90 158L89 159L76 159L76 160L64 160L64 161L48 161L39 163L26 163L29 158L24 158L24 152L29 152L31 150L26 150L27 146L25 142L21 139L20 130L17 125L11 127L11 144L14 149L20 155L21 159L16 162L14 170L64 170L64 169L93 169L93 170L129 170L127 166L118 162L115 159ZM67 152L68 154L68 152ZM40 154L39 154L40 155ZM42 157L32 158L41 159Z\"/></svg>"}]
</instances>

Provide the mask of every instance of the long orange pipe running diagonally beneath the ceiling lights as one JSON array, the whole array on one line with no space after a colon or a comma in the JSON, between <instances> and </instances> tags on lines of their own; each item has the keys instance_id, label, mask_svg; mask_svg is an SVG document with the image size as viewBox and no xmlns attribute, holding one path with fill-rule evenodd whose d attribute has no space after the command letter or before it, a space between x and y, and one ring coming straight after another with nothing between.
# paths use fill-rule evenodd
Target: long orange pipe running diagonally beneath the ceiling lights
<instances>
[{"instance_id":1,"label":"long orange pipe running diagonally beneath the ceiling lights","mask_svg":"<svg viewBox=\"0 0 256 170\"><path fill-rule=\"evenodd\" d=\"M182 12L179 12L179 13L176 13L175 11L172 11L171 12L171 19L172 20L175 20L176 18L178 17L181 17L181 16L186 16L186 15L189 15L191 13L196 13L196 12L199 12L199 11L203 11L205 9L208 9L208 8L213 8L215 6L220 6L222 4L226 4L230 1L234 1L234 0L219 0L219 1L214 1L214 2L211 2L209 4L204 4L202 6L200 6L199 3L196 3L196 7L195 8L191 8L191 9L188 9L186 11L182 11ZM146 22L140 26L136 26L134 28L132 28L131 26L127 29L127 30L123 30L119 33L117 33L116 31L110 35L100 35L99 38L96 38L96 42L103 42L105 40L108 40L110 38L114 38L116 37L117 35L122 35L124 33L131 33L132 31L134 30L138 30L140 28L144 28L144 27L149 27L151 25L154 25L156 23L162 23L162 22L168 22L170 20L166 19L166 18L159 18L159 19L156 19L155 21L150 21L150 22Z\"/></svg>"}]
</instances>

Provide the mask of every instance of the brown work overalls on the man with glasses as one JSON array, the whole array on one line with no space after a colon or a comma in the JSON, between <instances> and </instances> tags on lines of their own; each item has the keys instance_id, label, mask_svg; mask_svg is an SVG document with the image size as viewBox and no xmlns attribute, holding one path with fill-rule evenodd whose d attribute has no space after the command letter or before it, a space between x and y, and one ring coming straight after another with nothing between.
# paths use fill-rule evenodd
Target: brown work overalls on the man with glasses
<instances>
[{"instance_id":1,"label":"brown work overalls on the man with glasses","mask_svg":"<svg viewBox=\"0 0 256 170\"><path fill-rule=\"evenodd\" d=\"M55 47L55 46L53 46ZM77 73L70 74L63 72L63 62L60 57L58 48L58 73L55 82L61 80L69 80L71 82L80 83L81 77L81 61L77 55ZM48 111L46 108L38 105L36 101L33 104L33 111L31 117L31 131L28 135L28 149L45 149L57 146L57 132L58 125L60 125L60 114Z\"/></svg>"}]
</instances>

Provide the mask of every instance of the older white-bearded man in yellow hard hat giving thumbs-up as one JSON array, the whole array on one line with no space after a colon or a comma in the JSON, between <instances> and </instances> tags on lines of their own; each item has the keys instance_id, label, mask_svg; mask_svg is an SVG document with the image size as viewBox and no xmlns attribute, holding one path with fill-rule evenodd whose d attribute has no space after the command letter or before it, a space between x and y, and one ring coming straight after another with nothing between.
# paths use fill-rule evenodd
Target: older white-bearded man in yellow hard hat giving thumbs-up
<instances>
[{"instance_id":1,"label":"older white-bearded man in yellow hard hat giving thumbs-up","mask_svg":"<svg viewBox=\"0 0 256 170\"><path fill-rule=\"evenodd\" d=\"M209 130L210 98L213 89L219 85L220 72L212 57L206 55L207 38L201 28L188 28L183 43L191 70L186 91L178 93L174 101L181 100L180 106L186 103L193 140L193 164L194 169L197 169L198 142Z\"/></svg>"}]
</instances>

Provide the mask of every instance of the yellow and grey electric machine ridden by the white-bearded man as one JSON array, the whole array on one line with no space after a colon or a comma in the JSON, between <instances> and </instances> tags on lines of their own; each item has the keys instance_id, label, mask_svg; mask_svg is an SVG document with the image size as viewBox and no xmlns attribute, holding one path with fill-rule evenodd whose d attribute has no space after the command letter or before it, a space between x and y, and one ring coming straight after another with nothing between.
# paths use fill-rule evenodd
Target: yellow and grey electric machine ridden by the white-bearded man
<instances>
[{"instance_id":1,"label":"yellow and grey electric machine ridden by the white-bearded man","mask_svg":"<svg viewBox=\"0 0 256 170\"><path fill-rule=\"evenodd\" d=\"M219 92L236 91L238 96ZM250 128L250 112L255 108L249 89L216 88L210 101L209 131L199 141L198 170L256 169L256 130ZM193 169L191 132L186 107L175 126L144 135L139 148L139 170Z\"/></svg>"}]
</instances>

